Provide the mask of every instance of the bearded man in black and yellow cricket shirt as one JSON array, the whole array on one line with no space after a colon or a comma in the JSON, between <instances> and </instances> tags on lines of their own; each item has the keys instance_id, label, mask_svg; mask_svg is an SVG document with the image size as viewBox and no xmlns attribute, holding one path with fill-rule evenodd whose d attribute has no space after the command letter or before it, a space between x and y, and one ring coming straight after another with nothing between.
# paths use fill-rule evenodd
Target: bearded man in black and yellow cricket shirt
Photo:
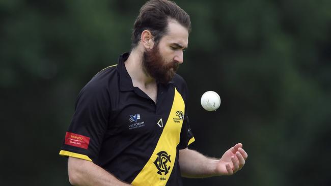
<instances>
[{"instance_id":1,"label":"bearded man in black and yellow cricket shirt","mask_svg":"<svg viewBox=\"0 0 331 186\"><path fill-rule=\"evenodd\" d=\"M174 2L151 0L134 23L132 49L79 92L61 156L73 185L182 185L181 177L232 175L238 143L220 159L188 149L187 86L176 74L191 23Z\"/></svg>"}]
</instances>

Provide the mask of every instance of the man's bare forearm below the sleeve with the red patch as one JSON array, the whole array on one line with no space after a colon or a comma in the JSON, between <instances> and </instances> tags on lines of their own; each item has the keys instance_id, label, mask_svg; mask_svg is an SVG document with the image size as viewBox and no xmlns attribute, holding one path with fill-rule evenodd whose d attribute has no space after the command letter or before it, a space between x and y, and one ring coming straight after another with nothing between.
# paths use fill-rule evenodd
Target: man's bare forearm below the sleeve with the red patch
<instances>
[{"instance_id":1,"label":"man's bare forearm below the sleeve with the red patch","mask_svg":"<svg viewBox=\"0 0 331 186\"><path fill-rule=\"evenodd\" d=\"M73 157L68 160L68 174L72 185L129 185L93 162Z\"/></svg>"}]
</instances>

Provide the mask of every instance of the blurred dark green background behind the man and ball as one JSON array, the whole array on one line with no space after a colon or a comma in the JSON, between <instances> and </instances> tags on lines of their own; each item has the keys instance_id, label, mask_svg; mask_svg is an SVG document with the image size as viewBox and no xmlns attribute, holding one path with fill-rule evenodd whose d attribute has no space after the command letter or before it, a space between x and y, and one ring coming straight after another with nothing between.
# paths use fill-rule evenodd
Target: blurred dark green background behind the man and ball
<instances>
[{"instance_id":1,"label":"blurred dark green background behind the man and ball","mask_svg":"<svg viewBox=\"0 0 331 186\"><path fill-rule=\"evenodd\" d=\"M130 50L145 1L0 1L0 185L69 185L58 155L79 90ZM190 89L191 148L233 176L184 185L331 185L331 1L176 1L192 32L179 74ZM216 112L200 106L218 92Z\"/></svg>"}]
</instances>

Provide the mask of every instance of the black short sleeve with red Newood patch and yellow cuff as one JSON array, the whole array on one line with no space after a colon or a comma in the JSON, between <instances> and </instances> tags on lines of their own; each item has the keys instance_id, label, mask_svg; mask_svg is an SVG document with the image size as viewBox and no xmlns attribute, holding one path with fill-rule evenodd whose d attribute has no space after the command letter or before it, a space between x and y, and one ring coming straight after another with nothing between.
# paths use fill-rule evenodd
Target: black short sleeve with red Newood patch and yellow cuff
<instances>
[{"instance_id":1,"label":"black short sleeve with red Newood patch and yellow cuff","mask_svg":"<svg viewBox=\"0 0 331 186\"><path fill-rule=\"evenodd\" d=\"M81 89L60 151L61 156L88 161L98 158L108 125L110 105L107 88L98 82L91 80Z\"/></svg>"}]
</instances>

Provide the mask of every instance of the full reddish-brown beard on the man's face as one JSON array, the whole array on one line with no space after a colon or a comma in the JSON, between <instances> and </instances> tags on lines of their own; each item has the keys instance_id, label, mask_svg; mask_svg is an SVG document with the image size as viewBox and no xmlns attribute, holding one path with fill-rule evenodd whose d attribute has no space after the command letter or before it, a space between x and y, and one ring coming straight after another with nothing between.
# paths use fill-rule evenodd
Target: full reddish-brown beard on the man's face
<instances>
[{"instance_id":1,"label":"full reddish-brown beard on the man's face","mask_svg":"<svg viewBox=\"0 0 331 186\"><path fill-rule=\"evenodd\" d=\"M159 51L158 46L144 51L143 71L146 75L154 78L159 83L168 83L175 76L179 63L175 60L168 63Z\"/></svg>"}]
</instances>

